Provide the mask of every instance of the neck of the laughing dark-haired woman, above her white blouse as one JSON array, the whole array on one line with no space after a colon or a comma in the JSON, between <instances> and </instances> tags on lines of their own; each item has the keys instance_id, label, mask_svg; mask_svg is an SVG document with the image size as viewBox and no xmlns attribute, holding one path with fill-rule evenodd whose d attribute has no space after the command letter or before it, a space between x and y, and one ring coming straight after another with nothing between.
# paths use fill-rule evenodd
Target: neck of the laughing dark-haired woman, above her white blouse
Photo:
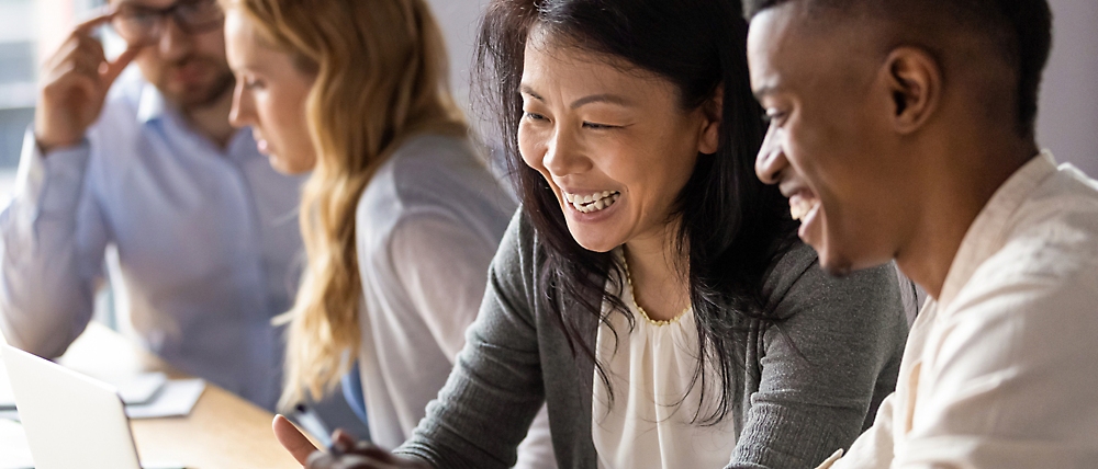
<instances>
[{"instance_id":1,"label":"neck of the laughing dark-haired woman, above her white blouse","mask_svg":"<svg viewBox=\"0 0 1098 469\"><path fill-rule=\"evenodd\" d=\"M684 264L674 247L676 228L668 225L663 232L638 237L625 244L625 259L632 278L632 296L648 317L668 321L690 307L690 288Z\"/></svg>"}]
</instances>

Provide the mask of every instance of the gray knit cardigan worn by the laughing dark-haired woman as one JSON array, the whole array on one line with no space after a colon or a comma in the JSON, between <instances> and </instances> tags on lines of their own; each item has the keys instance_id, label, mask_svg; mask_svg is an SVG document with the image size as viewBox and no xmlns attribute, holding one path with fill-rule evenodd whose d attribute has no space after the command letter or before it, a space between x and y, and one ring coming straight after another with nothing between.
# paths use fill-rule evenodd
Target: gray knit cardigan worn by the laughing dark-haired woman
<instances>
[{"instance_id":1,"label":"gray knit cardigan worn by the laughing dark-haired woman","mask_svg":"<svg viewBox=\"0 0 1098 469\"><path fill-rule=\"evenodd\" d=\"M466 346L412 439L396 453L437 468L508 468L542 402L561 468L596 465L591 438L594 364L573 354L544 301L538 236L517 215L489 272ZM907 321L892 266L828 277L804 245L785 254L764 293L788 319L744 320L743 366L732 412L731 468L810 468L847 448L893 391ZM590 344L594 314L581 314ZM623 468L624 469L624 468Z\"/></svg>"}]
</instances>

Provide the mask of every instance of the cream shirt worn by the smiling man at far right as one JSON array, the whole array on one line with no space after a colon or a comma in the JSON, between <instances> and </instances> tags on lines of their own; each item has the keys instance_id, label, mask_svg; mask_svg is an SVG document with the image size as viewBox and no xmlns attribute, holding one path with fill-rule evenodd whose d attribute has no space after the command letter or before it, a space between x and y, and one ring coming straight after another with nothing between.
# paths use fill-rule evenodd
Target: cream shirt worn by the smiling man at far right
<instances>
[{"instance_id":1,"label":"cream shirt worn by the smiling man at far right","mask_svg":"<svg viewBox=\"0 0 1098 469\"><path fill-rule=\"evenodd\" d=\"M1098 467L1098 183L1042 152L999 187L830 467Z\"/></svg>"}]
</instances>

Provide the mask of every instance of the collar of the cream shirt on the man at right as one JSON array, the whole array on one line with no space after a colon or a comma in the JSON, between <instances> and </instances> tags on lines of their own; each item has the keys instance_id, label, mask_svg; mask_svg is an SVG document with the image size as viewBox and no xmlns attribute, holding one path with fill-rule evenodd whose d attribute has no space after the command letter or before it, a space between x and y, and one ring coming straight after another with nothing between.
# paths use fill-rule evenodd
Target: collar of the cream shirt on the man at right
<instances>
[{"instance_id":1,"label":"collar of the cream shirt on the man at right","mask_svg":"<svg viewBox=\"0 0 1098 469\"><path fill-rule=\"evenodd\" d=\"M953 263L945 275L945 283L938 298L940 308L948 308L950 301L956 298L961 288L972 278L976 268L1006 244L1010 217L1018 211L1033 190L1054 172L1056 172L1056 160L1052 157L1052 152L1044 150L1023 164L995 191L995 195L968 227L956 255L953 256Z\"/></svg>"}]
</instances>

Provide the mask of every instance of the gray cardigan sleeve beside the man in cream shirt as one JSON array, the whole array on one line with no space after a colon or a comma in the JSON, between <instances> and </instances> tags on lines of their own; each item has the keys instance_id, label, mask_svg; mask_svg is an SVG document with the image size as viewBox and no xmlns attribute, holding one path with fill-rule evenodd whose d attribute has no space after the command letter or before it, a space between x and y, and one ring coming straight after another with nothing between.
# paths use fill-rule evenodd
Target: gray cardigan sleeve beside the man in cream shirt
<instances>
[{"instance_id":1,"label":"gray cardigan sleeve beside the man in cream shirt","mask_svg":"<svg viewBox=\"0 0 1098 469\"><path fill-rule=\"evenodd\" d=\"M895 387L907 338L895 270L834 278L806 250L791 252L800 261L774 274L788 284L774 291L787 319L762 334L759 389L730 468L816 467L850 446L875 398Z\"/></svg>"}]
</instances>

